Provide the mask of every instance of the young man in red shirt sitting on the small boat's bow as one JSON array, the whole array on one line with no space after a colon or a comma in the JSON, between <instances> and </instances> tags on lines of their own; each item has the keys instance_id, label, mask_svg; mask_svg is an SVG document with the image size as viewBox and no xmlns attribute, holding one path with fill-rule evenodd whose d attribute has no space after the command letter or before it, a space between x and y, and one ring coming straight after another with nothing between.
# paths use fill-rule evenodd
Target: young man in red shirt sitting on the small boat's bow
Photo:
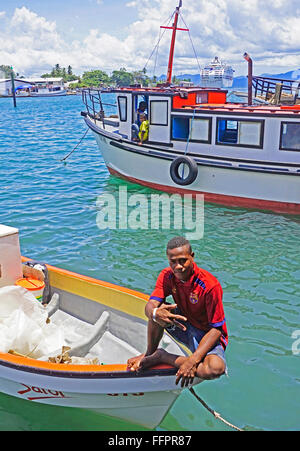
<instances>
[{"instance_id":1,"label":"young man in red shirt sitting on the small boat's bow","mask_svg":"<svg viewBox=\"0 0 300 451\"><path fill-rule=\"evenodd\" d=\"M175 237L167 245L170 267L159 275L145 307L148 345L145 354L128 360L131 371L165 363L178 368L176 384L193 382L194 377L214 379L226 371L227 328L222 287L208 271L198 268L189 241ZM167 304L172 295L176 304ZM158 349L164 329L192 352L189 357Z\"/></svg>"}]
</instances>

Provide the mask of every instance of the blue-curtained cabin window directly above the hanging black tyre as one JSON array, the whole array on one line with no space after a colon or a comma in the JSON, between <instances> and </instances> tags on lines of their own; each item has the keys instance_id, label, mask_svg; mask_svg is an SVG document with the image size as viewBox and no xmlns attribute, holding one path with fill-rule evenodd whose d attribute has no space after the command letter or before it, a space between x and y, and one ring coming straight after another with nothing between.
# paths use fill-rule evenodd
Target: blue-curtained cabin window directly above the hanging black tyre
<instances>
[{"instance_id":1,"label":"blue-curtained cabin window directly above the hanging black tyre","mask_svg":"<svg viewBox=\"0 0 300 451\"><path fill-rule=\"evenodd\" d=\"M210 142L209 118L174 116L172 118L172 139L197 142Z\"/></svg>"}]
</instances>

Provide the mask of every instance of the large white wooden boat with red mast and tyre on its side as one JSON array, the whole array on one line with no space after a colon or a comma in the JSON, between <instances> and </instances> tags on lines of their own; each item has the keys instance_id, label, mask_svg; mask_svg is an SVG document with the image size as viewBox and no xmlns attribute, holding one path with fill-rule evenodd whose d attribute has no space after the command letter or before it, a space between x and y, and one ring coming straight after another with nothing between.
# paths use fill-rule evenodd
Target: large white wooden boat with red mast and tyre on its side
<instances>
[{"instance_id":1,"label":"large white wooden boat with red mast and tyre on its side","mask_svg":"<svg viewBox=\"0 0 300 451\"><path fill-rule=\"evenodd\" d=\"M104 118L101 91L83 91L82 116L109 172L206 202L300 214L300 106L229 103L224 89L172 86L180 6L166 86L112 89L118 120ZM141 101L149 120L143 145L132 133Z\"/></svg>"}]
</instances>

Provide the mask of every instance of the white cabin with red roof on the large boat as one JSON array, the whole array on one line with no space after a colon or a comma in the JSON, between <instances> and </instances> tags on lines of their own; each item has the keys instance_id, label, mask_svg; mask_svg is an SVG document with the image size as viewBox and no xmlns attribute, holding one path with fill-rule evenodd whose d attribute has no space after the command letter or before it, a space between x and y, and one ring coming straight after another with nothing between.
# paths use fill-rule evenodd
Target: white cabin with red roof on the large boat
<instances>
[{"instance_id":1,"label":"white cabin with red roof on the large boat","mask_svg":"<svg viewBox=\"0 0 300 451\"><path fill-rule=\"evenodd\" d=\"M274 150L300 150L300 106L227 103L219 88L118 89L118 133L132 139L141 102L149 120L147 144L173 147L189 153L274 160ZM276 146L274 142L276 141ZM200 145L199 145L200 144ZM206 144L202 146L201 144ZM259 153L253 152L260 150ZM264 152L262 152L264 150ZM281 152L280 160L287 157ZM291 161L297 160L295 152Z\"/></svg>"}]
</instances>

